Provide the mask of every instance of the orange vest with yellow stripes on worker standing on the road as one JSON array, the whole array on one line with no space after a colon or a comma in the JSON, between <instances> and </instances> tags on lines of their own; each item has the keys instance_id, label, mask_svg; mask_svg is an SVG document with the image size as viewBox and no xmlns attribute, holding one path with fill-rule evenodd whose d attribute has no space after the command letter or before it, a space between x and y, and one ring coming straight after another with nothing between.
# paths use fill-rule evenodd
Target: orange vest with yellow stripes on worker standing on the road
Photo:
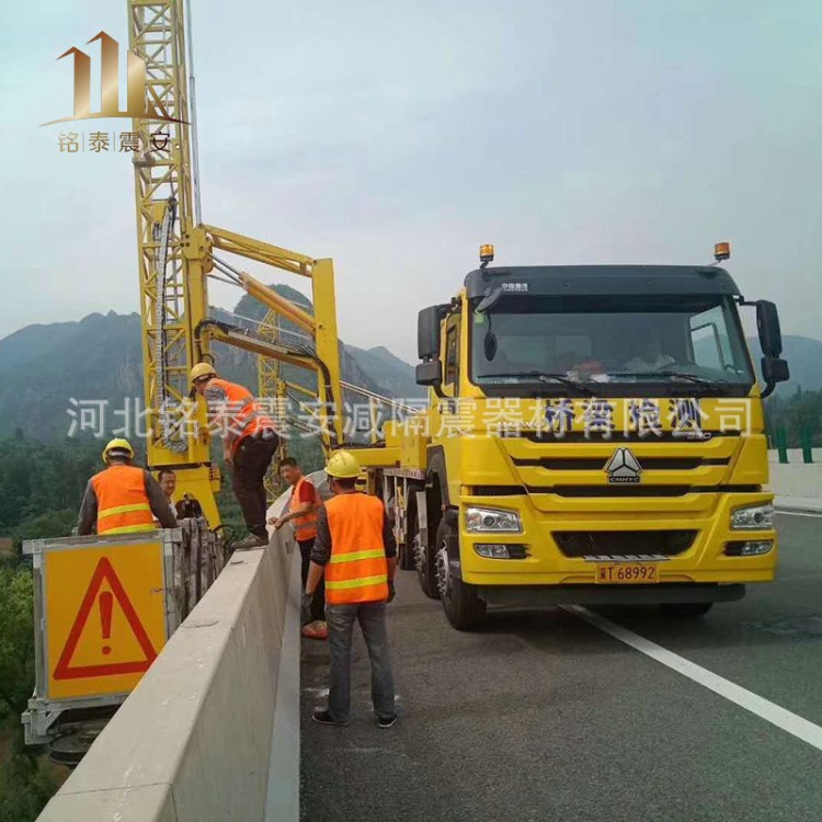
<instances>
[{"instance_id":1,"label":"orange vest with yellow stripes on worker standing on the road","mask_svg":"<svg viewBox=\"0 0 822 822\"><path fill-rule=\"evenodd\" d=\"M326 512L331 534L326 601L329 605L344 605L387 600L383 503L367 494L339 494L326 503Z\"/></svg>"}]
</instances>

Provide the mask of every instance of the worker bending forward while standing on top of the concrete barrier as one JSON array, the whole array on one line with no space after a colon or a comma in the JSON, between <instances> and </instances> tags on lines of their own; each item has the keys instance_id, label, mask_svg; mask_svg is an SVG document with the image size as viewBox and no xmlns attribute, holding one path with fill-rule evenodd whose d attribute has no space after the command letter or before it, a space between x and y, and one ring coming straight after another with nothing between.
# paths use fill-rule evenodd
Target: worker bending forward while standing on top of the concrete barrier
<instances>
[{"instance_id":1,"label":"worker bending forward while standing on top of the concrete barrier","mask_svg":"<svg viewBox=\"0 0 822 822\"><path fill-rule=\"evenodd\" d=\"M263 480L279 442L274 422L248 388L220 379L210 363L197 363L191 369L191 381L208 404L209 427L221 427L222 455L249 529L233 548L246 550L269 545Z\"/></svg>"}]
</instances>

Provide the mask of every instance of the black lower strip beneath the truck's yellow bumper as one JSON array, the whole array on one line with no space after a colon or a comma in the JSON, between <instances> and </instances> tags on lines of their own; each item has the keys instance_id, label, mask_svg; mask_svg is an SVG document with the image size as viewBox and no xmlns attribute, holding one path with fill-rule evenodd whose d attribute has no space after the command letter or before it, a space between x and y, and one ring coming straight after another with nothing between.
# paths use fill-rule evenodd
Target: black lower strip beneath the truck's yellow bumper
<instances>
[{"instance_id":1,"label":"black lower strip beneath the truck's yellow bumper","mask_svg":"<svg viewBox=\"0 0 822 822\"><path fill-rule=\"evenodd\" d=\"M659 605L733 602L745 595L741 584L669 583L658 585L483 585L479 595L491 606Z\"/></svg>"}]
</instances>

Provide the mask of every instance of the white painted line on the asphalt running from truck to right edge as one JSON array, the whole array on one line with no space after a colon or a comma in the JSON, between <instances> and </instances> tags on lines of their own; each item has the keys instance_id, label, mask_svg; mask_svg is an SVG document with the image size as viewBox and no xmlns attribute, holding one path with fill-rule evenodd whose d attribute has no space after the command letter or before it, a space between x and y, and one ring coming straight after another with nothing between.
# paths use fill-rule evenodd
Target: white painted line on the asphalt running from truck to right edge
<instances>
[{"instance_id":1,"label":"white painted line on the asphalt running from truck to right edge","mask_svg":"<svg viewBox=\"0 0 822 822\"><path fill-rule=\"evenodd\" d=\"M581 605L564 605L560 607L569 614L573 614L600 630L605 631L605 633L609 633L620 642L625 642L640 653L644 653L652 660L657 660L657 662L662 663L672 671L676 671L688 680L693 680L715 694L719 694L719 696L723 696L726 699L734 703L734 705L739 705L740 708L751 711L751 713L756 715L766 722L775 724L792 737L801 739L809 745L813 745L817 750L822 751L822 728L820 726L813 724L813 722L809 722L796 713L791 713L791 711L781 708L775 703L757 696L740 685L735 685L729 680L719 676L719 674L715 674L680 657L673 651L669 651L666 648L651 642L650 639L640 637L638 633L623 628L623 626L612 623L609 619L594 614L587 608L583 608Z\"/></svg>"}]
</instances>

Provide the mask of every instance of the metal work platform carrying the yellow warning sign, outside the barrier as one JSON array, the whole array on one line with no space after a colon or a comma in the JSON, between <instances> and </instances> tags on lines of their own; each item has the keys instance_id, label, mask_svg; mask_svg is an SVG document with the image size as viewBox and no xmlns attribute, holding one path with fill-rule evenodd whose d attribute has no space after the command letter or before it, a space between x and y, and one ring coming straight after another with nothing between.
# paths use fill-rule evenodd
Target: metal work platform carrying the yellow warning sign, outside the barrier
<instances>
[{"instance_id":1,"label":"metal work platform carrying the yellow warning sign, outside the barrier","mask_svg":"<svg viewBox=\"0 0 822 822\"><path fill-rule=\"evenodd\" d=\"M25 741L77 764L219 575L222 543L201 517L173 529L26 540L23 553L35 624Z\"/></svg>"}]
</instances>

